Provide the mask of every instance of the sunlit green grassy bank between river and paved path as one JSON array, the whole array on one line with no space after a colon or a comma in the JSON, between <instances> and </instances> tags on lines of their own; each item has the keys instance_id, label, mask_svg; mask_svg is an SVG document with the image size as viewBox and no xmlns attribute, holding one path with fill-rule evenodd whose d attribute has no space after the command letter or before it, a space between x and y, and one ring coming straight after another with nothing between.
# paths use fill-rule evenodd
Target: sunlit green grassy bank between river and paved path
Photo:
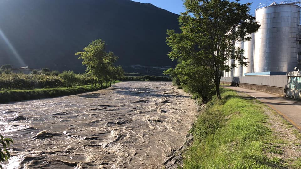
<instances>
[{"instance_id":1,"label":"sunlit green grassy bank between river and paved path","mask_svg":"<svg viewBox=\"0 0 301 169\"><path fill-rule=\"evenodd\" d=\"M279 157L282 146L292 141L275 136L265 105L230 90L225 90L222 98L213 99L198 116L191 130L194 142L184 153L184 168L300 167L299 159Z\"/></svg>"}]
</instances>

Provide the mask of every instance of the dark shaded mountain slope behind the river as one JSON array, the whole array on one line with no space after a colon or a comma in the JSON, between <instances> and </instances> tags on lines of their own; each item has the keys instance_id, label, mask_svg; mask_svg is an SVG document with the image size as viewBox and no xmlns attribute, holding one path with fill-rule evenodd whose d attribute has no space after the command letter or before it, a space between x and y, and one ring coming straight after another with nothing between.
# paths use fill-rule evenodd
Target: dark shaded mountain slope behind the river
<instances>
[{"instance_id":1,"label":"dark shaded mountain slope behind the river","mask_svg":"<svg viewBox=\"0 0 301 169\"><path fill-rule=\"evenodd\" d=\"M165 37L178 17L130 0L0 0L0 65L84 72L74 54L100 38L118 65L172 66Z\"/></svg>"}]
</instances>

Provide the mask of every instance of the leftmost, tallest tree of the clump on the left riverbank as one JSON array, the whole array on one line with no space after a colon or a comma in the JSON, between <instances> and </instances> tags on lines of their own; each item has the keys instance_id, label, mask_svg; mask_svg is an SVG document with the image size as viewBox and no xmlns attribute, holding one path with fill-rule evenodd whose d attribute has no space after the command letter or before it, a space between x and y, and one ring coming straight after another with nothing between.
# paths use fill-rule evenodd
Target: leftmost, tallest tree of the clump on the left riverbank
<instances>
[{"instance_id":1,"label":"leftmost, tallest tree of the clump on the left riverbank","mask_svg":"<svg viewBox=\"0 0 301 169\"><path fill-rule=\"evenodd\" d=\"M105 44L101 39L92 41L86 46L82 52L77 52L75 55L80 55L78 59L83 59L82 65L86 65L86 72L91 75L91 86L93 86L93 78L97 78L94 75L94 71L102 71L103 69L103 58L106 55ZM96 82L95 82L96 83Z\"/></svg>"}]
</instances>

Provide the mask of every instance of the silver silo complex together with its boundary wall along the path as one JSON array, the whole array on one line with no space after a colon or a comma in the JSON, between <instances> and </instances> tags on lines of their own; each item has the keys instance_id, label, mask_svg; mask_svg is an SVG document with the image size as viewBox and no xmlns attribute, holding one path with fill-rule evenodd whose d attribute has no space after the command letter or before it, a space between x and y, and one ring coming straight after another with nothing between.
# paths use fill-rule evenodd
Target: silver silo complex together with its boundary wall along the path
<instances>
[{"instance_id":1,"label":"silver silo complex together with its boundary wall along the path","mask_svg":"<svg viewBox=\"0 0 301 169\"><path fill-rule=\"evenodd\" d=\"M259 30L248 35L250 41L235 44L244 49L248 66L224 72L221 82L301 100L300 10L300 1L260 3L255 10Z\"/></svg>"}]
</instances>

